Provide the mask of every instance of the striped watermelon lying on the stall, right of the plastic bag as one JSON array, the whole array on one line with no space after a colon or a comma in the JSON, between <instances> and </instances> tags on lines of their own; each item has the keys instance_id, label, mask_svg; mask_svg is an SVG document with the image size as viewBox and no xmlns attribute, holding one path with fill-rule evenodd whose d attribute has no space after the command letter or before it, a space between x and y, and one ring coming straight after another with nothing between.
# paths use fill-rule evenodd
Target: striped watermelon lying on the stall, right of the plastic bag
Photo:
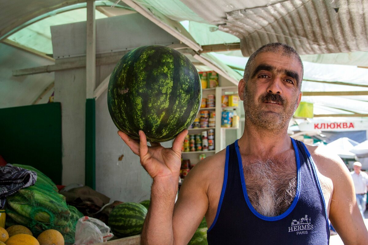
<instances>
[{"instance_id":1,"label":"striped watermelon lying on the stall, right of the plastic bag","mask_svg":"<svg viewBox=\"0 0 368 245\"><path fill-rule=\"evenodd\" d=\"M147 209L137 202L117 205L109 215L109 226L117 237L130 237L141 233Z\"/></svg>"}]
</instances>

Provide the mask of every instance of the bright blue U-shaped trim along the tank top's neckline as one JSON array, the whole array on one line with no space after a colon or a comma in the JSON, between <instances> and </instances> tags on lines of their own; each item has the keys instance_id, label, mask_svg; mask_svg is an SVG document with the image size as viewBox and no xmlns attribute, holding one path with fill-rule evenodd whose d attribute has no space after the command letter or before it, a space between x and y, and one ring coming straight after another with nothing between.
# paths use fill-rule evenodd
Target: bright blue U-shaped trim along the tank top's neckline
<instances>
[{"instance_id":1,"label":"bright blue U-shaped trim along the tank top's neckline","mask_svg":"<svg viewBox=\"0 0 368 245\"><path fill-rule=\"evenodd\" d=\"M243 188L244 199L245 199L245 202L247 202L248 208L259 219L266 220L266 221L276 221L276 220L283 219L284 217L288 216L291 213L291 211L293 211L293 209L295 208L295 206L297 205L297 202L299 200L300 188L301 188L299 151L298 151L298 147L295 143L295 140L293 138L290 138L290 139L291 139L291 142L293 143L293 147L294 147L294 151L295 151L296 164L297 164L297 179L298 179L297 191L296 191L295 198L294 198L293 202L291 203L290 207L284 213L282 213L281 215L275 216L275 217L268 217L268 216L261 215L260 213L258 213L253 208L252 203L250 202L250 200L248 198L247 187L245 185L243 164L242 164L242 161L241 161L241 156L240 156L240 151L239 151L239 146L238 146L238 140L235 141L235 150L236 150L236 154L237 154L237 157L238 157L241 187Z\"/></svg>"}]
</instances>

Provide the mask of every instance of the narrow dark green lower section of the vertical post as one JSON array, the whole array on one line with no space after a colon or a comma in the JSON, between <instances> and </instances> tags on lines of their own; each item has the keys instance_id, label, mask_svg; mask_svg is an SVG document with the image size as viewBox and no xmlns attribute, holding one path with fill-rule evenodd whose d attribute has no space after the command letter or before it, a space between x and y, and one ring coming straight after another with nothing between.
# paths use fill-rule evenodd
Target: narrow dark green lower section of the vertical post
<instances>
[{"instance_id":1,"label":"narrow dark green lower section of the vertical post","mask_svg":"<svg viewBox=\"0 0 368 245\"><path fill-rule=\"evenodd\" d=\"M85 185L96 190L96 101L86 100Z\"/></svg>"}]
</instances>

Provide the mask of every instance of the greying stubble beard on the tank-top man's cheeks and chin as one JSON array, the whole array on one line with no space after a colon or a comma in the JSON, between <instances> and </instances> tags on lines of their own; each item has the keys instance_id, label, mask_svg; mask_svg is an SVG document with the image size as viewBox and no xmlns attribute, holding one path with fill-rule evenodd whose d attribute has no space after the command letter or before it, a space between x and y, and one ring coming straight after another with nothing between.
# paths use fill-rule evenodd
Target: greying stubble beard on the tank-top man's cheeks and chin
<instances>
[{"instance_id":1,"label":"greying stubble beard on the tank-top man's cheeks and chin","mask_svg":"<svg viewBox=\"0 0 368 245\"><path fill-rule=\"evenodd\" d=\"M284 110L278 113L270 113L262 111L261 105L265 98L272 97L274 100L282 103ZM257 104L256 104L257 103ZM243 93L243 106L245 111L245 121L247 119L255 126L270 132L280 132L280 130L289 126L291 117L298 105L298 97L294 101L293 105L281 97L279 94L262 94L257 100L254 95L248 91L247 84Z\"/></svg>"}]
</instances>

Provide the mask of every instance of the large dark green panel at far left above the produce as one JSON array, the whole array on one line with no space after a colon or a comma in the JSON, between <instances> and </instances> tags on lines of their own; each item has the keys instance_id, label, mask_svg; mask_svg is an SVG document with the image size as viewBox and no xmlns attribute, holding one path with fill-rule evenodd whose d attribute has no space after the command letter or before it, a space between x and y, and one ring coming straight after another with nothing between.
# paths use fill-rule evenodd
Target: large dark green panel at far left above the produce
<instances>
[{"instance_id":1,"label":"large dark green panel at far left above the produce","mask_svg":"<svg viewBox=\"0 0 368 245\"><path fill-rule=\"evenodd\" d=\"M31 165L61 184L60 103L0 109L0 155Z\"/></svg>"}]
</instances>

